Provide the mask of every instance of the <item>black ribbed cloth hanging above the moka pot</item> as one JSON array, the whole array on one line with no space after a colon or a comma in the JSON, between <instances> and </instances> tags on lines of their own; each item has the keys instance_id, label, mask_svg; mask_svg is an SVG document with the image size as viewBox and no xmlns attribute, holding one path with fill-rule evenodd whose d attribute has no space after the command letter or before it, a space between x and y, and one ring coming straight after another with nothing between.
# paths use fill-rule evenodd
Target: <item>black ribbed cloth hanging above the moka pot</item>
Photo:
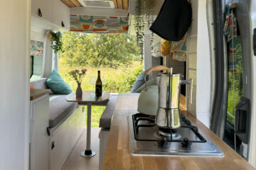
<instances>
[{"instance_id":1,"label":"black ribbed cloth hanging above the moka pot","mask_svg":"<svg viewBox=\"0 0 256 170\"><path fill-rule=\"evenodd\" d=\"M161 38L179 41L192 21L192 8L188 0L166 0L150 30Z\"/></svg>"}]
</instances>

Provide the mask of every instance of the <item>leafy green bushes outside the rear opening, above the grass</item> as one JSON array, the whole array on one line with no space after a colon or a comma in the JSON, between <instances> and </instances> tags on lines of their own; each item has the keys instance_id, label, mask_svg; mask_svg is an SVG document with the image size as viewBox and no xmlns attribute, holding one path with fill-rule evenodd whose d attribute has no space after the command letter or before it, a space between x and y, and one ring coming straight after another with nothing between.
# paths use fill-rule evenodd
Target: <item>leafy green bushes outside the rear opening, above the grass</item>
<instances>
[{"instance_id":1,"label":"leafy green bushes outside the rear opening, above the grass","mask_svg":"<svg viewBox=\"0 0 256 170\"><path fill-rule=\"evenodd\" d=\"M139 60L135 37L127 34L63 33L63 57L72 67L117 68Z\"/></svg>"}]
</instances>

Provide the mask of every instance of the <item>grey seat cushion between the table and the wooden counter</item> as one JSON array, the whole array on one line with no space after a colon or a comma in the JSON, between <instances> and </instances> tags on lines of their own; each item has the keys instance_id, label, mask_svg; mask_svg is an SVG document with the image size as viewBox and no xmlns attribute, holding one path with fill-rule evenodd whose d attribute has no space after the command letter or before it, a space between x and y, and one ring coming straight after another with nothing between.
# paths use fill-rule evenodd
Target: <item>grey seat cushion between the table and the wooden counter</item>
<instances>
[{"instance_id":1,"label":"grey seat cushion between the table and the wooden counter","mask_svg":"<svg viewBox=\"0 0 256 170\"><path fill-rule=\"evenodd\" d=\"M110 96L110 101L108 101L105 111L100 117L100 128L110 128L112 116L114 114L114 106L117 102L117 96Z\"/></svg>"}]
</instances>

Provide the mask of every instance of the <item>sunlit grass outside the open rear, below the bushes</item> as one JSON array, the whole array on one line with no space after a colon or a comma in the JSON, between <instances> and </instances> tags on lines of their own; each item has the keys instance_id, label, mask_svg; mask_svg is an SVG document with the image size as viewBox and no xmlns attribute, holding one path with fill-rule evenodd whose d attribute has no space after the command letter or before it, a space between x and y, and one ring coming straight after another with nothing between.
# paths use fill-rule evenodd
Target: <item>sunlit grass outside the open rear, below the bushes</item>
<instances>
[{"instance_id":1,"label":"sunlit grass outside the open rear, below the bushes","mask_svg":"<svg viewBox=\"0 0 256 170\"><path fill-rule=\"evenodd\" d=\"M72 91L77 89L77 83L73 80L68 72L73 69L86 68L87 72L82 80L81 88L83 91L94 90L92 84L90 84L90 77L97 77L97 70L100 69L101 77L105 78L105 84L102 85L104 91L110 93L129 93L137 76L143 72L143 65L140 62L133 62L131 65L122 66L117 69L113 68L94 68L94 67L70 67L65 64L62 58L59 59L59 73L65 82L67 82ZM105 106L92 106L92 128L99 127L100 116L105 110ZM87 107L86 107L87 112ZM87 115L86 115L87 121Z\"/></svg>"}]
</instances>

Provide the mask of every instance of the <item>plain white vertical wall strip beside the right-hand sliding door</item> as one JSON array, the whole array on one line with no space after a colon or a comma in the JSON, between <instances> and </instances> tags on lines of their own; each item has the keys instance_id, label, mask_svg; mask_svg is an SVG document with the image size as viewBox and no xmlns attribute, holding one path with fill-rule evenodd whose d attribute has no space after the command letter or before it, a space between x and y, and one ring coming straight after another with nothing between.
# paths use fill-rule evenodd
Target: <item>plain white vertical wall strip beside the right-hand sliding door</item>
<instances>
[{"instance_id":1,"label":"plain white vertical wall strip beside the right-hand sliding door","mask_svg":"<svg viewBox=\"0 0 256 170\"><path fill-rule=\"evenodd\" d=\"M206 0L198 0L198 38L196 79L196 118L210 128L210 41L206 18Z\"/></svg>"}]
</instances>

